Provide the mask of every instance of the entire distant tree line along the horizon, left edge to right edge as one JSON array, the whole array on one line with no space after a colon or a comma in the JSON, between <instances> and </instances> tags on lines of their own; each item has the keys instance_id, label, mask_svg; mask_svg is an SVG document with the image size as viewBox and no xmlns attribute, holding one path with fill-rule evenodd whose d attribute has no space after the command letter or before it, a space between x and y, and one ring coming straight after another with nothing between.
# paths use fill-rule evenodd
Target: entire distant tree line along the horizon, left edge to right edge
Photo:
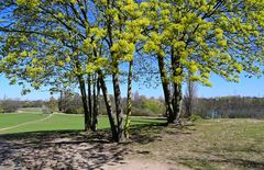
<instances>
[{"instance_id":1,"label":"entire distant tree line along the horizon, left edge to right edge","mask_svg":"<svg viewBox=\"0 0 264 170\"><path fill-rule=\"evenodd\" d=\"M264 118L264 98L191 97L191 103L189 99L190 97L186 93L182 110L183 117L199 115L204 118ZM110 95L110 100L114 100L113 95ZM132 116L166 116L166 107L163 98L147 98L145 95L140 95L139 92L135 92L133 93L132 103ZM127 98L122 98L121 105L123 110L127 110ZM43 106L48 107L51 112L84 114L81 97L78 93L70 91L65 91L58 99L51 98L48 101L22 101L19 99L0 100L0 113L13 113L21 107ZM116 110L114 106L113 110ZM107 114L107 109L101 95L99 97L99 114Z\"/></svg>"}]
</instances>

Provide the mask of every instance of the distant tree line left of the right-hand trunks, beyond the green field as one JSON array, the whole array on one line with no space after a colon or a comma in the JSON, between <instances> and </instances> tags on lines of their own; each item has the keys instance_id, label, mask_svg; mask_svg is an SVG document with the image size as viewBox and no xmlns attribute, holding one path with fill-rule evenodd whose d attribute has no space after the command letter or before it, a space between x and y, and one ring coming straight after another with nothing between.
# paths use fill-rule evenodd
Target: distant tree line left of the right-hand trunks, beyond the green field
<instances>
[{"instance_id":1,"label":"distant tree line left of the right-hand trunks, beyond the green field","mask_svg":"<svg viewBox=\"0 0 264 170\"><path fill-rule=\"evenodd\" d=\"M109 99L111 102L114 101L114 97L111 94ZM132 116L162 116L165 114L166 109L163 98L147 98L135 92L132 103ZM98 113L106 115L107 109L102 95L99 95L97 105L99 105ZM121 106L124 111L127 110L127 98L121 99ZM3 99L0 101L0 113L13 113L21 107L43 107L44 113L84 114L80 94L70 90L63 91L58 99L52 97L48 101L21 101L19 99ZM91 100L91 107L94 110L94 100ZM113 110L116 110L114 105Z\"/></svg>"}]
</instances>

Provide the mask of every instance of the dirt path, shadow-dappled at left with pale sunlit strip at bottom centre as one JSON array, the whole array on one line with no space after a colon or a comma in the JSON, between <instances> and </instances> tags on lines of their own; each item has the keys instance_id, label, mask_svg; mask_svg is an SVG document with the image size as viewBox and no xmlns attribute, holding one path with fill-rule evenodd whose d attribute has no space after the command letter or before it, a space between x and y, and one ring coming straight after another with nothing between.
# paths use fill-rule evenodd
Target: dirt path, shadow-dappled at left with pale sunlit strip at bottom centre
<instances>
[{"instance_id":1,"label":"dirt path, shadow-dappled at left with pale sunlit strip at bottom centre","mask_svg":"<svg viewBox=\"0 0 264 170\"><path fill-rule=\"evenodd\" d=\"M170 165L162 160L125 158L133 150L108 141L87 143L67 137L55 139L43 137L35 143L2 140L0 148L0 170L189 170L180 165Z\"/></svg>"}]
</instances>

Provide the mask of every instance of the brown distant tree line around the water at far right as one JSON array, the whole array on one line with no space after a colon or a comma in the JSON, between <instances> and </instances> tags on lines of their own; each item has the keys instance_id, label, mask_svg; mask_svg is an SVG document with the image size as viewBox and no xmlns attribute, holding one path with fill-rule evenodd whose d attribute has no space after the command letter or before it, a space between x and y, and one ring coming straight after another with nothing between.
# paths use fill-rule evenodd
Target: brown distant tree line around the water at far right
<instances>
[{"instance_id":1,"label":"brown distant tree line around the water at far right","mask_svg":"<svg viewBox=\"0 0 264 170\"><path fill-rule=\"evenodd\" d=\"M205 118L263 118L264 98L222 97L195 99L194 113Z\"/></svg>"}]
</instances>

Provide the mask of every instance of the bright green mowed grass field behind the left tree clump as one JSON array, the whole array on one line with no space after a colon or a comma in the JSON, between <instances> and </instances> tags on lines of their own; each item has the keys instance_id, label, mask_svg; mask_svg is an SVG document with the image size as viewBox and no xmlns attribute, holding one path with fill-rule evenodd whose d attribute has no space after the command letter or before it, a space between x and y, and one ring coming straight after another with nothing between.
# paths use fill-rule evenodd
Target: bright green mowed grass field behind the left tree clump
<instances>
[{"instance_id":1,"label":"bright green mowed grass field behind the left tree clump","mask_svg":"<svg viewBox=\"0 0 264 170\"><path fill-rule=\"evenodd\" d=\"M21 113L21 114L1 114L0 115L0 134L14 134L24 132L41 132L41 131L70 131L70 129L84 129L84 116L82 115L68 115L68 114L53 114L51 118L41 121L48 115ZM36 123L30 123L25 125L16 126L26 122L38 121ZM132 117L132 124L152 124L163 123L164 120ZM1 128L9 128L1 131ZM107 116L99 116L98 128L110 127Z\"/></svg>"}]
</instances>

